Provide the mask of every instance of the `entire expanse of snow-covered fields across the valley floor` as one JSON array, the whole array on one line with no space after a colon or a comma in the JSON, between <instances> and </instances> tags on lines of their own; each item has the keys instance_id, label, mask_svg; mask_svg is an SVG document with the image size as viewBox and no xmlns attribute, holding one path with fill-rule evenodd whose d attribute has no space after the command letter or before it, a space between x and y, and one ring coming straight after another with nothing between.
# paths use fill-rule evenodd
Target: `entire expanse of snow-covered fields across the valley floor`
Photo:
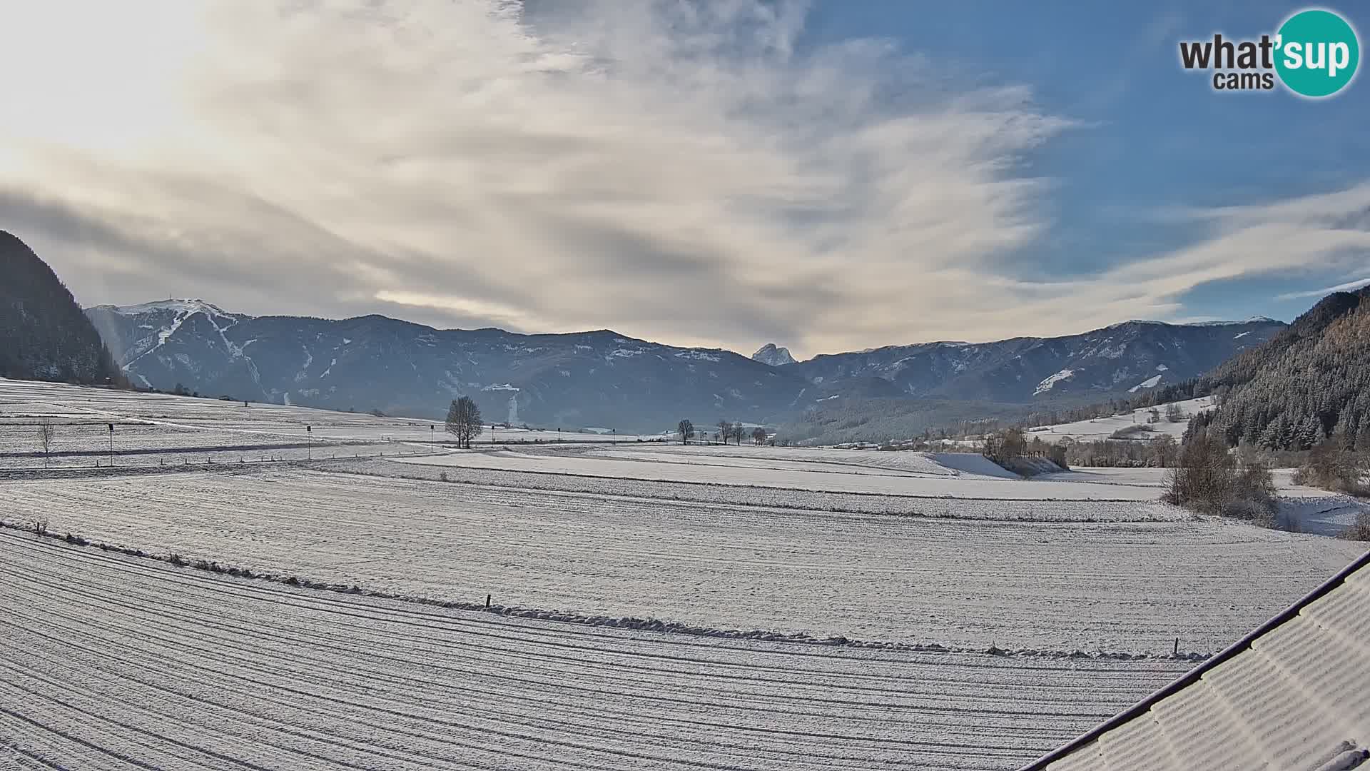
<instances>
[{"instance_id":1,"label":"entire expanse of snow-covered fields across the valley floor","mask_svg":"<svg viewBox=\"0 0 1370 771\"><path fill-rule=\"evenodd\" d=\"M34 471L42 417L73 465L108 421L142 450ZM156 468L297 457L304 425L312 464ZM0 381L0 520L388 595L0 530L0 767L1014 768L1362 546L1191 516L1160 469L426 434Z\"/></svg>"}]
</instances>

